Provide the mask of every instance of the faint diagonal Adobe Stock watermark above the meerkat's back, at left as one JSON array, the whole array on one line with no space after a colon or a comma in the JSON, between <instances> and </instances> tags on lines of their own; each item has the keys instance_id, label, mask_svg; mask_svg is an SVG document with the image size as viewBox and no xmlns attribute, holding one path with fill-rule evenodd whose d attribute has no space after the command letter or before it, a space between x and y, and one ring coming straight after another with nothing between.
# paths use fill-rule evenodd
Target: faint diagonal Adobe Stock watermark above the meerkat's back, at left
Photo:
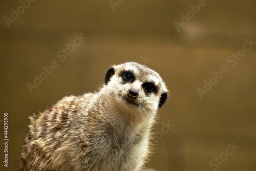
<instances>
[{"instance_id":1,"label":"faint diagonal Adobe Stock watermark above the meerkat's back, at left","mask_svg":"<svg viewBox=\"0 0 256 171\"><path fill-rule=\"evenodd\" d=\"M57 57L60 61L65 61L67 56L71 55L72 52L75 51L76 47L80 46L82 42L87 39L87 37L83 37L82 33L80 35L75 34L75 38L73 39L73 43L69 44L67 48L62 48L60 51L57 52ZM38 86L42 83L43 80L47 79L49 75L53 73L53 70L59 67L59 63L57 60L52 60L49 66L42 66L42 72L38 74L34 74L34 81L33 83L27 82L27 87L29 92L32 93L33 89L37 89Z\"/></svg>"}]
</instances>

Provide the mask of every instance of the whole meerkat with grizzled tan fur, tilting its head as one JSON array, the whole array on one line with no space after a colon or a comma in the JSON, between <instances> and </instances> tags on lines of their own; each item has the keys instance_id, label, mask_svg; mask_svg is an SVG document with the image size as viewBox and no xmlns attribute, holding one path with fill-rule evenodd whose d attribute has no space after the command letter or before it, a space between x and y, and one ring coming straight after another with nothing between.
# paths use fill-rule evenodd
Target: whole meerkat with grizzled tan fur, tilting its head
<instances>
[{"instance_id":1,"label":"whole meerkat with grizzled tan fur, tilting its head","mask_svg":"<svg viewBox=\"0 0 256 171\"><path fill-rule=\"evenodd\" d=\"M59 100L30 117L18 169L138 171L151 127L167 99L160 75L136 62L112 66L95 93Z\"/></svg>"}]
</instances>

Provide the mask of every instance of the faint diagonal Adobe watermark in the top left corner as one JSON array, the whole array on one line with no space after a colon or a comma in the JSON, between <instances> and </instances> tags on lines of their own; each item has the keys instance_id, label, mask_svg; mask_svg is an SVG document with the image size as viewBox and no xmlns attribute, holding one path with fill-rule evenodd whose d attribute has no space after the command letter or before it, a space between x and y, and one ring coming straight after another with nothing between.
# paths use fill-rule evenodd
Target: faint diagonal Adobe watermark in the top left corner
<instances>
[{"instance_id":1,"label":"faint diagonal Adobe watermark in the top left corner","mask_svg":"<svg viewBox=\"0 0 256 171\"><path fill-rule=\"evenodd\" d=\"M10 27L10 23L14 23L15 20L17 20L19 18L19 16L21 14L23 14L26 9L28 9L31 5L31 3L34 3L36 0L20 0L20 6L18 6L16 8L16 10L14 10L13 8L11 9L11 17L4 17L5 23L7 25L7 27Z\"/></svg>"}]
</instances>

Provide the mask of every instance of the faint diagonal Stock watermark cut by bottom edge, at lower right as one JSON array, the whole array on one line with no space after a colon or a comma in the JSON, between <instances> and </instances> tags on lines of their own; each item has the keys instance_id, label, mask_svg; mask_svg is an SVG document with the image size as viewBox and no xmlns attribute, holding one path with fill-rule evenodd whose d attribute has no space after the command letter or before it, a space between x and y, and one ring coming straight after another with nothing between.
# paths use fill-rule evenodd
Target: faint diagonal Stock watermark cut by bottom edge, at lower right
<instances>
[{"instance_id":1,"label":"faint diagonal Stock watermark cut by bottom edge, at lower right","mask_svg":"<svg viewBox=\"0 0 256 171\"><path fill-rule=\"evenodd\" d=\"M240 147L234 145L234 142L232 142L232 145L230 143L227 143L227 146L228 147L226 148L225 153L222 153L219 157L215 157L214 160L211 160L209 162L209 166L213 167L212 169L217 170L220 167L220 165L222 165L228 159L228 156L233 155L234 152L236 152L237 149ZM210 170L206 169L204 171Z\"/></svg>"}]
</instances>

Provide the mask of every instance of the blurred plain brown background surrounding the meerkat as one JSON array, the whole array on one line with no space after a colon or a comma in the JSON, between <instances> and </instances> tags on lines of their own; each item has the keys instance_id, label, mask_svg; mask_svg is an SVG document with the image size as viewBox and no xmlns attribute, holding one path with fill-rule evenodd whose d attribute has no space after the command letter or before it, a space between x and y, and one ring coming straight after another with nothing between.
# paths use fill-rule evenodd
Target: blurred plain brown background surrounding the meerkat
<instances>
[{"instance_id":1,"label":"blurred plain brown background surrounding the meerkat","mask_svg":"<svg viewBox=\"0 0 256 171\"><path fill-rule=\"evenodd\" d=\"M256 2L111 3L35 1L25 3L25 9L19 1L0 2L2 135L4 112L9 114L9 163L8 168L3 166L1 143L0 170L17 169L28 116L63 96L96 91L108 67L131 60L158 70L170 91L154 126L155 153L147 167L158 171L256 170L256 45L235 66L231 66L234 61L227 61L232 53L243 52L245 39L256 42ZM199 6L200 11L195 7L198 4L204 6ZM197 13L189 12L190 6ZM18 17L12 14L17 8ZM182 24L181 14L187 13L189 22L183 19L178 32L174 23ZM87 37L77 47L72 45L75 34ZM63 60L57 53L67 47L73 52L67 52ZM39 76L42 67L54 60L58 67L30 93L27 83L33 84L34 75ZM197 88L203 89L204 80L209 81L212 71L222 66L229 72L200 98ZM163 122L173 126L167 133L161 131ZM227 144L233 142L240 147L227 155Z\"/></svg>"}]
</instances>

